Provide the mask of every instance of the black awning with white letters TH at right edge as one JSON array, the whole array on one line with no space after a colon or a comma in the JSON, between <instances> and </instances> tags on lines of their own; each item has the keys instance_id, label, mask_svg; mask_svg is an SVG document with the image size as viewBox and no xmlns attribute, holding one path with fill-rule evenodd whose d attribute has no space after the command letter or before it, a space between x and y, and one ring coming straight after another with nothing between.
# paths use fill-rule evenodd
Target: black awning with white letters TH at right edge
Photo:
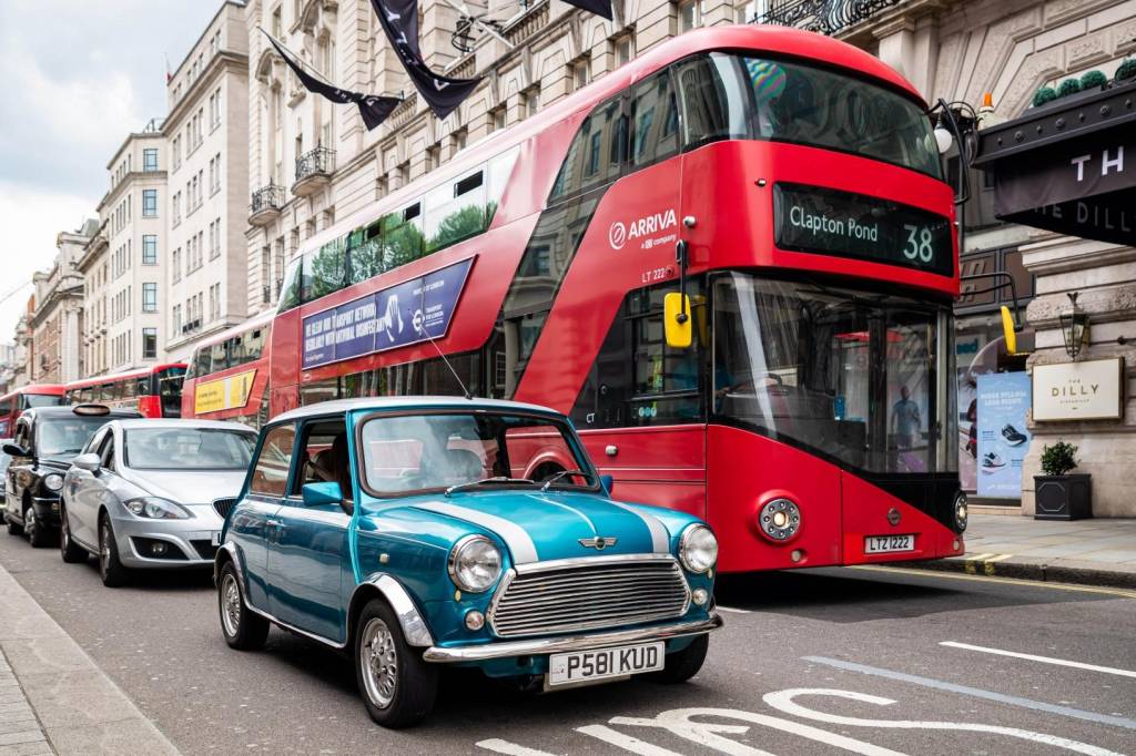
<instances>
[{"instance_id":1,"label":"black awning with white letters TH at right edge","mask_svg":"<svg viewBox=\"0 0 1136 756\"><path fill-rule=\"evenodd\" d=\"M1136 81L984 128L974 165L1003 220L1136 245Z\"/></svg>"}]
</instances>

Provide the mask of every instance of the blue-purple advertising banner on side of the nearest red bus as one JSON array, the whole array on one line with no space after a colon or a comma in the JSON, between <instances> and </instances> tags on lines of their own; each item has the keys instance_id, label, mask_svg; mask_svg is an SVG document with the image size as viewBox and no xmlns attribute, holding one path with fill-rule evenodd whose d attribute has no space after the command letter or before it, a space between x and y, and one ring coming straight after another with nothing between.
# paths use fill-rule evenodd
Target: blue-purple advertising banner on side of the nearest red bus
<instances>
[{"instance_id":1,"label":"blue-purple advertising banner on side of the nearest red bus","mask_svg":"<svg viewBox=\"0 0 1136 756\"><path fill-rule=\"evenodd\" d=\"M303 369L441 338L473 259L303 319Z\"/></svg>"}]
</instances>

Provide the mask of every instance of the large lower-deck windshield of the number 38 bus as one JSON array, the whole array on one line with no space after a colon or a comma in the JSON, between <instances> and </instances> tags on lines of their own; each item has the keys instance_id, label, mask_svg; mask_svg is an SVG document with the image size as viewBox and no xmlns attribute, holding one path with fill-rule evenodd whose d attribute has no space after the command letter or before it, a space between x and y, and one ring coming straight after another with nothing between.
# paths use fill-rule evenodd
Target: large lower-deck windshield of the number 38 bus
<instances>
[{"instance_id":1,"label":"large lower-deck windshield of the number 38 bus","mask_svg":"<svg viewBox=\"0 0 1136 756\"><path fill-rule=\"evenodd\" d=\"M853 469L950 472L937 444L958 444L953 418L936 410L953 372L936 370L946 314L901 296L718 278L712 411Z\"/></svg>"}]
</instances>

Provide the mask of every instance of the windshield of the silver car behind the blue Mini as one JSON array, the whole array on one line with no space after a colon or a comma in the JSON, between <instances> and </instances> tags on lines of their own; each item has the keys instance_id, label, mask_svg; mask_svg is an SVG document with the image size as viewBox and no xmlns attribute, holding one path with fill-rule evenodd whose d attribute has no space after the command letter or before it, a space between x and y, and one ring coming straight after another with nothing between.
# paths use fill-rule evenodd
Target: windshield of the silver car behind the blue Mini
<instances>
[{"instance_id":1,"label":"windshield of the silver car behind the blue Mini","mask_svg":"<svg viewBox=\"0 0 1136 756\"><path fill-rule=\"evenodd\" d=\"M244 470L256 435L222 428L132 428L125 463L134 470Z\"/></svg>"}]
</instances>

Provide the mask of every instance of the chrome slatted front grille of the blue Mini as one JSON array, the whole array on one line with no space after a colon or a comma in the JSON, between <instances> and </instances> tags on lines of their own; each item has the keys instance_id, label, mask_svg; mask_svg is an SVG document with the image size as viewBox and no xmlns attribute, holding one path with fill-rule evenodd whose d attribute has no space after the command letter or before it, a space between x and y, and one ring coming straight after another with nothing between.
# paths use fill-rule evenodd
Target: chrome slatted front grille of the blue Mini
<instances>
[{"instance_id":1,"label":"chrome slatted front grille of the blue Mini","mask_svg":"<svg viewBox=\"0 0 1136 756\"><path fill-rule=\"evenodd\" d=\"M502 638L596 630L682 616L690 589L673 558L595 557L511 576L490 611Z\"/></svg>"}]
</instances>

